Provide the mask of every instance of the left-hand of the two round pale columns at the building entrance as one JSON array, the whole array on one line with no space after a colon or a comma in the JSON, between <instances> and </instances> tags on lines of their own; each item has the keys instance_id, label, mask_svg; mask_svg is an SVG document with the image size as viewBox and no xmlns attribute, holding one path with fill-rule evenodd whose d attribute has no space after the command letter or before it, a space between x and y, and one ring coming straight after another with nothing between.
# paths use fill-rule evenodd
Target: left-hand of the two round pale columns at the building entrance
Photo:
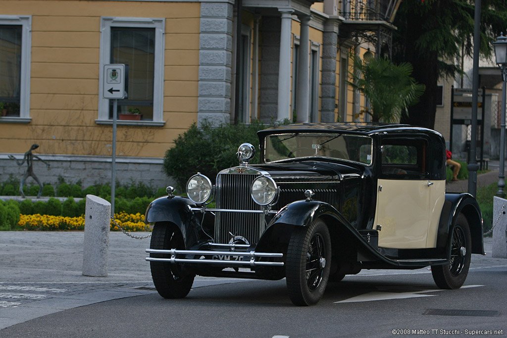
<instances>
[{"instance_id":1,"label":"left-hand of the two round pale columns at the building entrance","mask_svg":"<svg viewBox=\"0 0 507 338\"><path fill-rule=\"evenodd\" d=\"M279 9L280 59L278 61L278 114L277 120L291 118L291 29L292 9Z\"/></svg>"}]
</instances>

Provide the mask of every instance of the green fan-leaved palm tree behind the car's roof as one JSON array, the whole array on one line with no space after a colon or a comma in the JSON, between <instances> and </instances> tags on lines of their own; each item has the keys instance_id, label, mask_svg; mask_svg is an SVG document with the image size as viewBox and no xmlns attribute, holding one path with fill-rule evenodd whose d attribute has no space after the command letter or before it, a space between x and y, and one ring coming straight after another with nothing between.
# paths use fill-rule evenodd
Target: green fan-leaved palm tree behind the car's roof
<instances>
[{"instance_id":1,"label":"green fan-leaved palm tree behind the car's roof","mask_svg":"<svg viewBox=\"0 0 507 338\"><path fill-rule=\"evenodd\" d=\"M370 115L373 122L399 122L407 107L424 93L425 86L410 76L413 68L408 62L395 65L387 58L351 57L355 71L350 72L353 81L349 84L370 99L371 110L361 112Z\"/></svg>"}]
</instances>

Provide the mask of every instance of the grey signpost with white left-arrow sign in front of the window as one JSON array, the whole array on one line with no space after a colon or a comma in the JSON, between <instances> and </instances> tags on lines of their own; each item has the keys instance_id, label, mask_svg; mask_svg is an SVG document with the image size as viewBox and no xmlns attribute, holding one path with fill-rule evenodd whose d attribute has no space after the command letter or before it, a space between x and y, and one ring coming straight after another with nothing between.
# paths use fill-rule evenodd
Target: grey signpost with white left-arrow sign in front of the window
<instances>
[{"instance_id":1,"label":"grey signpost with white left-arrow sign in front of the window","mask_svg":"<svg viewBox=\"0 0 507 338\"><path fill-rule=\"evenodd\" d=\"M103 92L105 99L113 100L113 156L111 166L111 216L115 215L115 185L116 185L116 116L118 99L127 98L128 65L104 64Z\"/></svg>"}]
</instances>

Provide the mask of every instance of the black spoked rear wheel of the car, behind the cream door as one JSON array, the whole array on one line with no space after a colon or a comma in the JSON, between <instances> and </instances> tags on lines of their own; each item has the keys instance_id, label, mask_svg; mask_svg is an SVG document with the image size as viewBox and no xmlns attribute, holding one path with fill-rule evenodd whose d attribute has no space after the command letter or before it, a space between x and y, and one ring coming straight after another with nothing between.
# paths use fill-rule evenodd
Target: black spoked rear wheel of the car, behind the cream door
<instances>
[{"instance_id":1,"label":"black spoked rear wheel of the car, behind the cream door","mask_svg":"<svg viewBox=\"0 0 507 338\"><path fill-rule=\"evenodd\" d=\"M456 224L450 232L451 259L449 265L431 267L433 280L441 289L458 289L463 285L470 267L472 255L472 238L468 221L463 214L459 214Z\"/></svg>"}]
</instances>

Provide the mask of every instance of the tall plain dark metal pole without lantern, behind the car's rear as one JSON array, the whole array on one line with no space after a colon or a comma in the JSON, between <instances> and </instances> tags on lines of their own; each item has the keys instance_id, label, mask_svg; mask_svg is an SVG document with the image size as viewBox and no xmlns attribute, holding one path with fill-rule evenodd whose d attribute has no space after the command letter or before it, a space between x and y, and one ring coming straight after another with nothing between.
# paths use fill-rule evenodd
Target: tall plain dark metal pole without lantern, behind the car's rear
<instances>
[{"instance_id":1,"label":"tall plain dark metal pole without lantern, behind the car's rear","mask_svg":"<svg viewBox=\"0 0 507 338\"><path fill-rule=\"evenodd\" d=\"M470 161L468 162L468 193L477 196L477 103L479 91L479 44L480 44L481 0L475 1L474 17L474 68L472 75L472 135L470 135Z\"/></svg>"}]
</instances>

